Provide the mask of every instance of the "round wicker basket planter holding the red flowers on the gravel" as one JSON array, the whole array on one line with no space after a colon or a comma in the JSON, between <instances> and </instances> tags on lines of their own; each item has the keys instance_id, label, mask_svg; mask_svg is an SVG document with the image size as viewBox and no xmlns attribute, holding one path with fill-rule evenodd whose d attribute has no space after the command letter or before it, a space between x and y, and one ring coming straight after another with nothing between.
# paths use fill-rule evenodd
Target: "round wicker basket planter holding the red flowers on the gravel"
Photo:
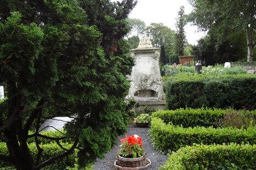
<instances>
[{"instance_id":1,"label":"round wicker basket planter holding the red flowers on the gravel","mask_svg":"<svg viewBox=\"0 0 256 170\"><path fill-rule=\"evenodd\" d=\"M150 165L151 162L146 158L146 154L137 158L126 158L118 155L117 161L115 161L115 167L120 170L138 170L147 168Z\"/></svg>"}]
</instances>

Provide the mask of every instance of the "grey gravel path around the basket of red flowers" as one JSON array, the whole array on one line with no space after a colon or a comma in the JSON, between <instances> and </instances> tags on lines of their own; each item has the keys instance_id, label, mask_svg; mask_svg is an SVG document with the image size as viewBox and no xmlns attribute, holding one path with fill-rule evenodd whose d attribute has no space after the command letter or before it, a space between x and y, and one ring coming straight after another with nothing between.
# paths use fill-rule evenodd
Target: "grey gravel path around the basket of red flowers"
<instances>
[{"instance_id":1,"label":"grey gravel path around the basket of red flowers","mask_svg":"<svg viewBox=\"0 0 256 170\"><path fill-rule=\"evenodd\" d=\"M156 151L150 143L150 135L149 135L150 128L137 128L137 127L130 127L128 128L127 135L137 134L143 140L143 149L145 150L149 160L151 161L151 165L145 170L156 170L160 165L163 165L167 160L167 155L162 155L158 151ZM114 167L114 162L116 161L117 152L119 150L119 145L121 145L120 139L124 138L125 134L119 136L117 139L117 144L113 146L113 148L105 154L105 158L100 160L97 158L97 161L94 165L95 170L113 170L116 169Z\"/></svg>"}]
</instances>

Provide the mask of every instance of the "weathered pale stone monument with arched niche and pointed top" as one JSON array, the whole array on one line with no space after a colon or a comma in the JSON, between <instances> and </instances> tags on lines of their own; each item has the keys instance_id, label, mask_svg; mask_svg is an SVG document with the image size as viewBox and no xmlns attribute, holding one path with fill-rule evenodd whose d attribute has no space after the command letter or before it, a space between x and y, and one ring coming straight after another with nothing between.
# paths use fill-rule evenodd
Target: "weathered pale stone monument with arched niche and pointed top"
<instances>
[{"instance_id":1,"label":"weathered pale stone monument with arched niche and pointed top","mask_svg":"<svg viewBox=\"0 0 256 170\"><path fill-rule=\"evenodd\" d=\"M165 109L165 94L160 75L160 48L154 48L148 37L140 39L139 46L130 50L135 65L130 77L127 98L138 101L140 106L150 105L155 109Z\"/></svg>"}]
</instances>

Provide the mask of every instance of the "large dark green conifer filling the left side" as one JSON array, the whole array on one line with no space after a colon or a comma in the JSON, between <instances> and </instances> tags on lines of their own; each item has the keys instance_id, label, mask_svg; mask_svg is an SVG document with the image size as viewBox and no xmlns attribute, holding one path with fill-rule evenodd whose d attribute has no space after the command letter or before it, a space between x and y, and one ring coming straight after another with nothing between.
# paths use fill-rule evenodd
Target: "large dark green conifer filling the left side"
<instances>
[{"instance_id":1,"label":"large dark green conifer filling the left side","mask_svg":"<svg viewBox=\"0 0 256 170\"><path fill-rule=\"evenodd\" d=\"M9 155L0 154L0 160L17 169L40 169L78 148L84 165L111 148L128 123L123 97L133 59L122 37L135 4L1 1L0 83L7 99L0 104L0 133ZM39 137L62 139L39 132L42 122L55 116L74 117L65 136L73 146L41 161ZM36 157L30 154L29 138L35 140Z\"/></svg>"}]
</instances>

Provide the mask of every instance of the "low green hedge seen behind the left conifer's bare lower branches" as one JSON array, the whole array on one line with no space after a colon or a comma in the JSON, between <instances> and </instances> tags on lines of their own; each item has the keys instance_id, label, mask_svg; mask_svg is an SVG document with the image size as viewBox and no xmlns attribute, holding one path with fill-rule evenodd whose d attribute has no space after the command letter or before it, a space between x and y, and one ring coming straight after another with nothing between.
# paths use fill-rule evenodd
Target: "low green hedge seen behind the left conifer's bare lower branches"
<instances>
[{"instance_id":1,"label":"low green hedge seen behind the left conifer's bare lower branches","mask_svg":"<svg viewBox=\"0 0 256 170\"><path fill-rule=\"evenodd\" d=\"M64 148L69 149L72 144L63 144ZM63 149L59 148L59 146L55 143L49 143L49 144L43 144L40 145L43 149L42 155L41 155L41 162L48 160L48 158L51 158L57 154L61 154L63 152ZM29 149L32 153L33 157L36 157L37 155L37 148L35 143L29 144ZM6 155L8 153L6 143L0 143L0 154ZM62 159L59 159L56 161L56 163L53 163L53 165L47 166L43 169L66 169L66 167L74 167L75 165L75 158L77 157L77 150L75 152L67 157L64 157ZM0 167L6 167L5 169L14 169L12 165L9 163L0 161Z\"/></svg>"}]
</instances>

